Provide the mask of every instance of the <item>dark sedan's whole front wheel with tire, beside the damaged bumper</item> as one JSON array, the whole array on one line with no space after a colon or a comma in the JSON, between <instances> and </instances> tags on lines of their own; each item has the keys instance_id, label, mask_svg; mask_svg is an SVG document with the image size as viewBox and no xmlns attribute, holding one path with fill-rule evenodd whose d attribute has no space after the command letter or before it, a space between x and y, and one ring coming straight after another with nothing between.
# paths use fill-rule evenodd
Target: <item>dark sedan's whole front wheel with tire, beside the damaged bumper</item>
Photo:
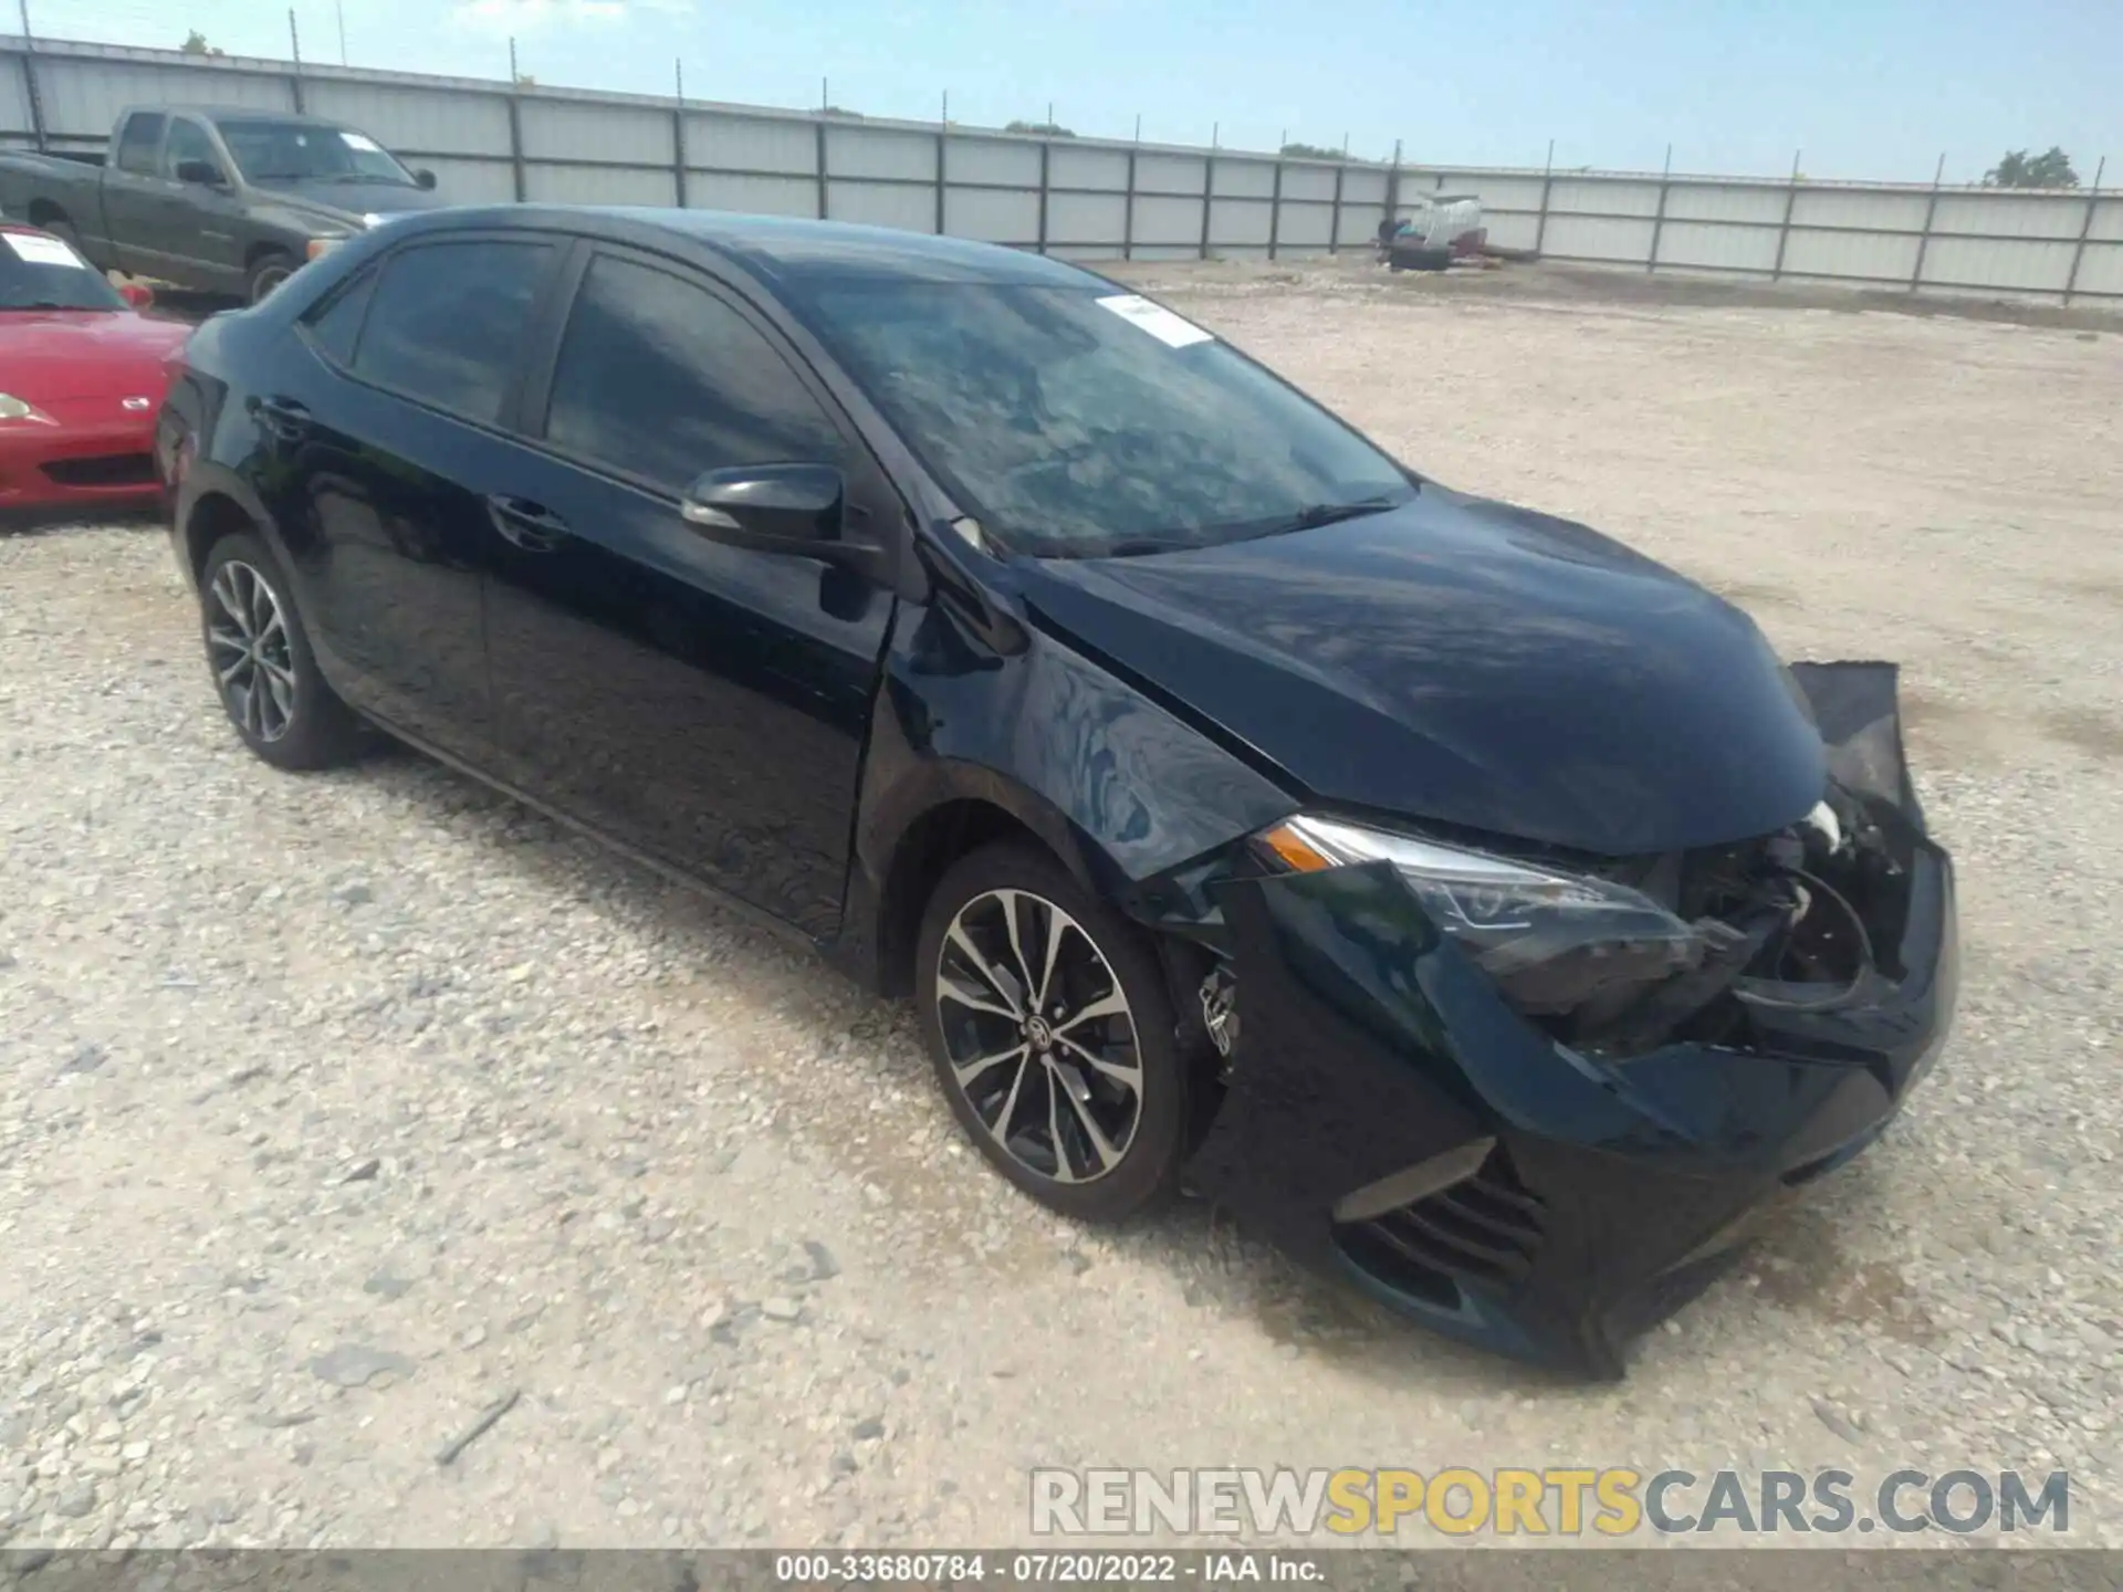
<instances>
[{"instance_id":1,"label":"dark sedan's whole front wheel with tire, beside the damaged bumper","mask_svg":"<svg viewBox=\"0 0 2123 1592\"><path fill-rule=\"evenodd\" d=\"M1176 1191L1193 1078L1155 945L1030 843L936 883L915 991L981 1155L1042 1206L1123 1221Z\"/></svg>"}]
</instances>

